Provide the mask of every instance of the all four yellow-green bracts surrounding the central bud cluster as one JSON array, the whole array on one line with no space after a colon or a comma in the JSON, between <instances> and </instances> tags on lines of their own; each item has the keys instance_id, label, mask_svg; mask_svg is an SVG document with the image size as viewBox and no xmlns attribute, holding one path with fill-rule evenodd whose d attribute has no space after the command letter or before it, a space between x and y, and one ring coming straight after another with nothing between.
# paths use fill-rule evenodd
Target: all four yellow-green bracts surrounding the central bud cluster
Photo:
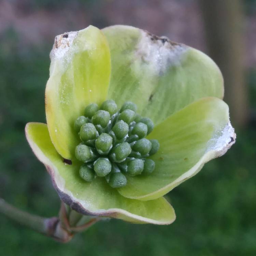
<instances>
[{"instance_id":1,"label":"all four yellow-green bracts surrounding the central bud cluster","mask_svg":"<svg viewBox=\"0 0 256 256\"><path fill-rule=\"evenodd\" d=\"M47 125L28 123L27 140L46 166L61 200L85 215L133 223L170 224L172 206L163 197L226 153L236 134L222 101L223 78L216 64L189 46L129 26L86 29L55 38L45 91ZM75 148L73 125L90 103L137 104L151 118L158 152L151 175L126 175L112 188L102 177L86 182Z\"/></svg>"}]
</instances>

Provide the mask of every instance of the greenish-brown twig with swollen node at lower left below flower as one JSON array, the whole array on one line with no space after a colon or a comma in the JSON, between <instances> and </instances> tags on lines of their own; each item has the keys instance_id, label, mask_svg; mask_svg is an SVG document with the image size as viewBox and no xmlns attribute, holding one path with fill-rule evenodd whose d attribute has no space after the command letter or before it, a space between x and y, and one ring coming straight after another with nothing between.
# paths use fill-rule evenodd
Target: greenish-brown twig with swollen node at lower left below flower
<instances>
[{"instance_id":1,"label":"greenish-brown twig with swollen node at lower left below flower","mask_svg":"<svg viewBox=\"0 0 256 256\"><path fill-rule=\"evenodd\" d=\"M0 198L0 213L26 227L52 237L60 242L68 242L73 236L73 234L62 228L59 218L43 218L30 214L13 207L2 198Z\"/></svg>"}]
</instances>

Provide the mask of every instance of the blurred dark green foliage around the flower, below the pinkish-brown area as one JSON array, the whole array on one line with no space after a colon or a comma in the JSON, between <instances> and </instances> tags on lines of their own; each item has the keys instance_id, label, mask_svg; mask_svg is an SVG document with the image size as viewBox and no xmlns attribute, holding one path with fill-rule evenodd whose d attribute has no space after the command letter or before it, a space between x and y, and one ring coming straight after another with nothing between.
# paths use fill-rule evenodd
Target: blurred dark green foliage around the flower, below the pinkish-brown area
<instances>
[{"instance_id":1,"label":"blurred dark green foliage around the flower, below the pinkish-brown area","mask_svg":"<svg viewBox=\"0 0 256 256\"><path fill-rule=\"evenodd\" d=\"M51 12L59 2L34 1L31 10ZM93 1L76 2L90 6ZM248 15L254 13L255 1L247 0L246 10ZM24 127L31 121L45 122L44 89L52 41L24 50L19 40L13 27L0 37L0 197L50 217L57 214L59 199L26 142ZM246 79L251 106L248 127L236 130L237 143L225 156L207 163L167 195L177 215L172 225L105 221L77 234L70 243L59 244L0 216L0 254L256 255L255 67L247 68Z\"/></svg>"}]
</instances>

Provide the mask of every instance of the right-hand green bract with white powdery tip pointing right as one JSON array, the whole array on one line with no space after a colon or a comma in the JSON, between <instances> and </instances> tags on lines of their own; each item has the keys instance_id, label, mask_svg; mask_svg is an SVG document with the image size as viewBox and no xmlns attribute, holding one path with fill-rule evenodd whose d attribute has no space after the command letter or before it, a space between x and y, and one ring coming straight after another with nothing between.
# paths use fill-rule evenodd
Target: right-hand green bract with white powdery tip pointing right
<instances>
[{"instance_id":1,"label":"right-hand green bract with white powdery tip pointing right","mask_svg":"<svg viewBox=\"0 0 256 256\"><path fill-rule=\"evenodd\" d=\"M152 200L165 195L198 173L204 163L225 154L236 134L227 104L208 97L168 117L147 138L160 143L150 157L156 167L150 175L127 176L127 185L118 189L127 198Z\"/></svg>"}]
</instances>

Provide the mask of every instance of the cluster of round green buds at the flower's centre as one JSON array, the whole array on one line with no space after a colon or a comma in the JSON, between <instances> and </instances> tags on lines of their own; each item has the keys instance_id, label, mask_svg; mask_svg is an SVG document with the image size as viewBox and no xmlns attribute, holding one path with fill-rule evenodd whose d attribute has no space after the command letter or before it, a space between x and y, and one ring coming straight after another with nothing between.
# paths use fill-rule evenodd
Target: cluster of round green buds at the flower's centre
<instances>
[{"instance_id":1,"label":"cluster of round green buds at the flower's centre","mask_svg":"<svg viewBox=\"0 0 256 256\"><path fill-rule=\"evenodd\" d=\"M81 143L75 156L84 162L80 176L87 182L96 176L105 177L113 188L127 183L126 175L148 175L155 169L155 162L147 158L159 149L157 140L145 137L153 130L150 118L136 113L137 106L125 102L118 110L115 101L106 100L99 106L86 106L84 115L74 123Z\"/></svg>"}]
</instances>

